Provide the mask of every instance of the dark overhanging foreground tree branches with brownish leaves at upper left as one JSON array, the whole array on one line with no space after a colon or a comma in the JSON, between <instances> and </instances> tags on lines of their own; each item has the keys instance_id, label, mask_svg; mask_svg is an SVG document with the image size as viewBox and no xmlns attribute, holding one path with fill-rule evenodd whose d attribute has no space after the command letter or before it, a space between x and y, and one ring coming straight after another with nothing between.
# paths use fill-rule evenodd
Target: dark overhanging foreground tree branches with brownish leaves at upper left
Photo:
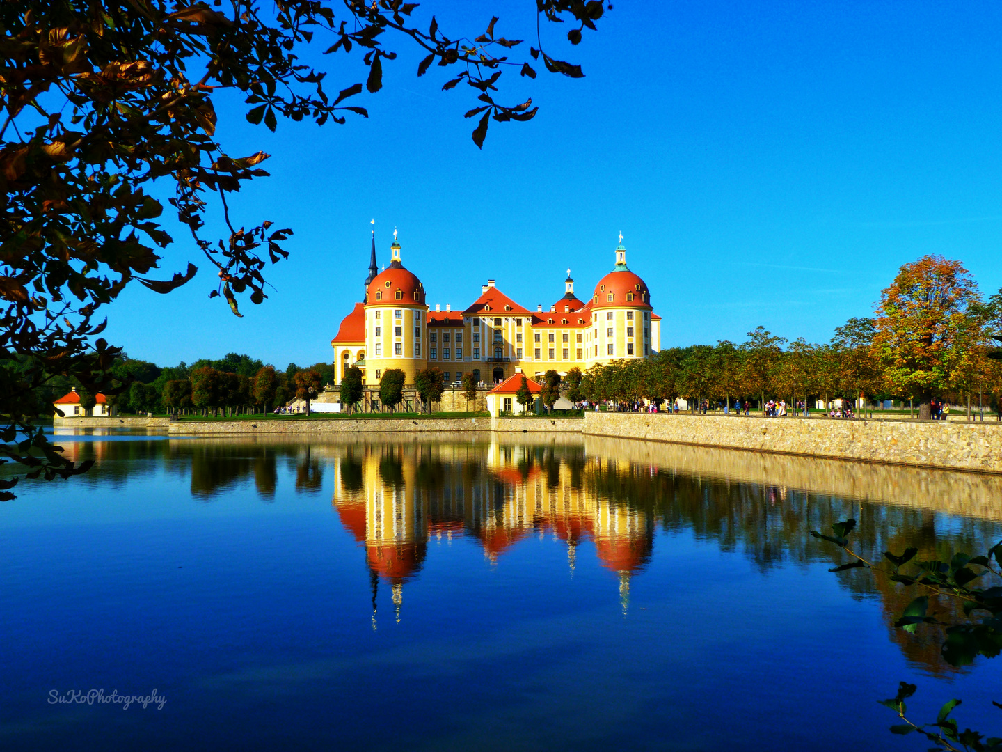
<instances>
[{"instance_id":1,"label":"dark overhanging foreground tree branches with brownish leaves at upper left","mask_svg":"<svg viewBox=\"0 0 1002 752\"><path fill-rule=\"evenodd\" d=\"M34 393L52 377L71 377L106 395L124 389L110 373L121 349L100 338L103 306L129 285L169 293L197 272L189 262L168 280L148 277L173 242L158 220L163 206L150 193L154 182L157 195L172 189L172 211L215 274L210 297L224 299L236 316L238 296L256 305L267 297L263 270L267 261L288 257L282 245L292 230L267 221L244 229L231 221L229 198L245 181L267 176L261 164L269 154L228 153L217 138L216 92L225 92L227 102L242 99L244 117L273 131L280 115L344 123L349 112L368 117L364 107L346 100L364 88L382 88L383 64L397 58L390 45L416 45L427 53L419 76L436 63L436 71L456 72L443 89L464 84L477 97L466 116L479 116L472 133L479 147L491 118L525 121L537 111L531 99L495 98L503 70L534 78L531 55L542 57L547 71L584 75L580 66L535 47L518 55L521 41L495 34L496 18L479 36L468 30L451 34L434 16L412 21L417 4L345 0L337 15L332 5L231 0L222 12L181 0L3 4L0 362L27 357L31 363L5 384L11 389L0 390L2 454L28 458L12 443L18 434L27 434L39 450L47 448L29 410L36 409ZM574 22L567 32L571 44L581 41L584 29L595 29L603 11L598 0L537 5L546 21ZM333 44L327 46L321 35ZM369 69L365 86L346 81L337 96L329 96L325 87L333 92L339 86L332 88L325 71L303 63L312 43L324 44L332 55L354 50ZM204 237L208 212L221 215L228 238ZM38 454L41 464L31 465L48 479L81 471L52 451Z\"/></svg>"}]
</instances>

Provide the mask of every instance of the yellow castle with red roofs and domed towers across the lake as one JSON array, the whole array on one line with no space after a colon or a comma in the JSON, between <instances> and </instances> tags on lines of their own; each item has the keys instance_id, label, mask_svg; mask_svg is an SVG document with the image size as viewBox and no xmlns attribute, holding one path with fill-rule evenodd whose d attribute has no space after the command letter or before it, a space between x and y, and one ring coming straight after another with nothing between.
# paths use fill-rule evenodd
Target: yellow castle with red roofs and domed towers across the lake
<instances>
[{"instance_id":1,"label":"yellow castle with red roofs and domed towers across the lake","mask_svg":"<svg viewBox=\"0 0 1002 752\"><path fill-rule=\"evenodd\" d=\"M341 322L334 347L335 383L358 366L364 383L379 384L383 372L399 368L413 384L415 374L429 366L441 370L447 383L472 372L478 382L500 383L516 372L561 375L596 363L646 358L660 349L660 317L650 304L650 292L626 267L626 249L619 236L615 266L598 281L587 303L574 295L567 271L564 294L544 311L520 306L488 280L463 311L450 306L430 310L421 280L401 262L394 231L390 266L376 263L376 234L361 303Z\"/></svg>"}]
</instances>

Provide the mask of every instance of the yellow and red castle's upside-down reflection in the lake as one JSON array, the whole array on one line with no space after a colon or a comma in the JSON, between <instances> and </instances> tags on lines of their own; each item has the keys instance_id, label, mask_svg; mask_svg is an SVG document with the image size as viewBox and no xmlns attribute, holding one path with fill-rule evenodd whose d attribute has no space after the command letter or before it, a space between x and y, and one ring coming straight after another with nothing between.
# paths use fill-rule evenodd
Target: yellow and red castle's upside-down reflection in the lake
<instances>
[{"instance_id":1,"label":"yellow and red castle's upside-down reflection in the lake","mask_svg":"<svg viewBox=\"0 0 1002 752\"><path fill-rule=\"evenodd\" d=\"M374 589L377 578L391 584L398 619L429 538L470 535L496 563L521 538L552 535L566 545L571 571L578 544L590 539L618 577L624 610L630 578L650 556L650 509L596 493L596 477L614 474L616 461L585 461L583 447L359 445L334 469L332 504L364 545Z\"/></svg>"}]
</instances>

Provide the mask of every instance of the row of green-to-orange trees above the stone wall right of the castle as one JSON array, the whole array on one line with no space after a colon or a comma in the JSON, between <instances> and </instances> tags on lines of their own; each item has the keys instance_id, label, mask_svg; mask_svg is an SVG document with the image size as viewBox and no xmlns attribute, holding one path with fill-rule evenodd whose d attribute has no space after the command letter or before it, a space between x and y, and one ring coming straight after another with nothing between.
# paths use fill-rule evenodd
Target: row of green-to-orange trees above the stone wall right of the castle
<instances>
[{"instance_id":1,"label":"row of green-to-orange trees above the stone wall right of the castle","mask_svg":"<svg viewBox=\"0 0 1002 752\"><path fill-rule=\"evenodd\" d=\"M583 374L580 396L595 402L656 403L677 397L811 397L913 400L928 418L930 401L967 401L1002 393L1002 291L985 302L960 262L924 257L906 264L875 318L850 319L827 344L788 340L763 327L734 345L669 348L648 360L615 361ZM1002 340L999 340L1002 341Z\"/></svg>"}]
</instances>

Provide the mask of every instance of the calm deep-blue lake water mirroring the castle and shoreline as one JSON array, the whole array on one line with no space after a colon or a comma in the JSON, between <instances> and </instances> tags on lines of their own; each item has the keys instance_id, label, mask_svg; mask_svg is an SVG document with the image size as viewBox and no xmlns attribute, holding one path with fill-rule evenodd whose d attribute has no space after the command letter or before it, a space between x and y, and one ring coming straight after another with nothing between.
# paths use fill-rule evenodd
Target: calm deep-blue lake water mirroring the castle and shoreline
<instances>
[{"instance_id":1,"label":"calm deep-blue lake water mirroring the castle and shoreline","mask_svg":"<svg viewBox=\"0 0 1002 752\"><path fill-rule=\"evenodd\" d=\"M0 748L919 750L1002 659L890 627L872 555L986 550L1002 478L575 437L61 436L0 505ZM51 704L149 695L162 709ZM994 693L994 697L993 697Z\"/></svg>"}]
</instances>

